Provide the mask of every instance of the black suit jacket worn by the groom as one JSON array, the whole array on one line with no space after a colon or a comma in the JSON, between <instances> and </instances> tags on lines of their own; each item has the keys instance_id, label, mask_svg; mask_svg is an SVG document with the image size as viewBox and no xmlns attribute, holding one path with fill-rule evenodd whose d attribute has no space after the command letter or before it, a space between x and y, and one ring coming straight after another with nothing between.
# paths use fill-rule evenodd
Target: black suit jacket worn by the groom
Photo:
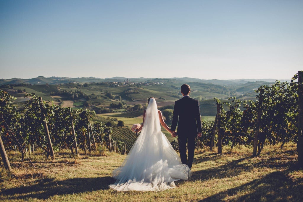
<instances>
[{"instance_id":1,"label":"black suit jacket worn by the groom","mask_svg":"<svg viewBox=\"0 0 303 202\"><path fill-rule=\"evenodd\" d=\"M175 101L171 130L175 131L178 123L178 135L202 132L200 104L198 100L184 96Z\"/></svg>"}]
</instances>

